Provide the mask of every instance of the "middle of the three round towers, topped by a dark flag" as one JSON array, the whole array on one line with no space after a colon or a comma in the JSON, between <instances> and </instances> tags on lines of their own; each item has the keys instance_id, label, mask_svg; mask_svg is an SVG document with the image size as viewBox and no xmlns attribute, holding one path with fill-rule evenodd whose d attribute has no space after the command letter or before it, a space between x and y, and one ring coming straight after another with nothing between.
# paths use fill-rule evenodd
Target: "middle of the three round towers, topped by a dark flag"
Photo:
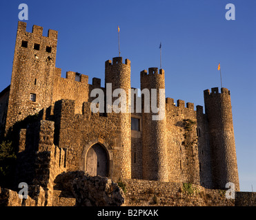
<instances>
[{"instance_id":1,"label":"middle of the three round towers, topped by a dark flag","mask_svg":"<svg viewBox=\"0 0 256 220\"><path fill-rule=\"evenodd\" d=\"M149 89L150 100L146 100L146 91ZM152 112L152 94L157 91L157 107L164 111L164 118L153 120L157 113ZM165 91L164 69L151 67L141 72L141 98L142 98L142 159L143 179L168 181L166 159L166 117L165 117L165 92L159 95L159 89ZM147 104L148 103L148 104ZM146 111L146 105L150 111Z\"/></svg>"}]
</instances>

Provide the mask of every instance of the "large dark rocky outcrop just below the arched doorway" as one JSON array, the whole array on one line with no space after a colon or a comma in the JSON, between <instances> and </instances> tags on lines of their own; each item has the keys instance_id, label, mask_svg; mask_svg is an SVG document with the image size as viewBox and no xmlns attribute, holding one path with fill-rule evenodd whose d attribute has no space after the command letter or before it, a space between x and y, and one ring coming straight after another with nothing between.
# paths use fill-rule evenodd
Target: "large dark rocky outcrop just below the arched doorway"
<instances>
[{"instance_id":1,"label":"large dark rocky outcrop just below the arched doorway","mask_svg":"<svg viewBox=\"0 0 256 220\"><path fill-rule=\"evenodd\" d=\"M117 183L107 177L92 177L84 171L61 173L55 179L54 188L74 197L75 206L121 206L124 203L124 192ZM59 205L56 197L54 205Z\"/></svg>"}]
</instances>

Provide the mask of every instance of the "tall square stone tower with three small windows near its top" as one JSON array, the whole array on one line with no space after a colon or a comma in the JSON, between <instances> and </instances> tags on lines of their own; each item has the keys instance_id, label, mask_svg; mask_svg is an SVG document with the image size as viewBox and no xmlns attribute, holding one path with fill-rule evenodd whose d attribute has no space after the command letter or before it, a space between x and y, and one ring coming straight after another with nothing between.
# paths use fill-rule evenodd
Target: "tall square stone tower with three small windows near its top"
<instances>
[{"instance_id":1,"label":"tall square stone tower with three small windows near its top","mask_svg":"<svg viewBox=\"0 0 256 220\"><path fill-rule=\"evenodd\" d=\"M48 30L43 36L42 27L33 25L30 33L26 25L19 21L17 28L6 131L52 104L58 32Z\"/></svg>"}]
</instances>

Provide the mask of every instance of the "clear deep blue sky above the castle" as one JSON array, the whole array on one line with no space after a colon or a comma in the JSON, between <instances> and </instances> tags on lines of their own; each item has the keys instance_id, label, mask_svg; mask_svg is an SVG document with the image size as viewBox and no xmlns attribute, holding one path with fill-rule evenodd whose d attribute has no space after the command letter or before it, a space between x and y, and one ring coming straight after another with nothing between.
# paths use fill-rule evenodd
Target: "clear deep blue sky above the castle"
<instances>
[{"instance_id":1,"label":"clear deep blue sky above the castle","mask_svg":"<svg viewBox=\"0 0 256 220\"><path fill-rule=\"evenodd\" d=\"M27 31L32 25L58 30L56 66L101 78L104 63L118 56L131 61L132 87L139 87L139 72L162 67L166 96L204 106L204 89L230 89L240 188L256 191L256 1L1 1L0 90L10 84L18 5L28 4ZM235 5L235 21L227 21L227 3Z\"/></svg>"}]
</instances>

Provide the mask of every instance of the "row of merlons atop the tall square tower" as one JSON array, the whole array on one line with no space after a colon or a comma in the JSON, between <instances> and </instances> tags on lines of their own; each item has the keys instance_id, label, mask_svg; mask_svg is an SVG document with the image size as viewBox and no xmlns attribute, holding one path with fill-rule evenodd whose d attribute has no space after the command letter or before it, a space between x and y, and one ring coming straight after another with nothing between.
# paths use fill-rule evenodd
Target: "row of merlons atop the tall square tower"
<instances>
[{"instance_id":1,"label":"row of merlons atop the tall square tower","mask_svg":"<svg viewBox=\"0 0 256 220\"><path fill-rule=\"evenodd\" d=\"M23 22L23 21L18 22L18 33L23 33L23 34L30 33L26 31L26 28L27 28L26 22ZM34 36L43 36L43 27L40 27L38 25L33 25L31 33ZM57 41L58 32L56 30L49 29L47 37L50 40Z\"/></svg>"}]
</instances>

